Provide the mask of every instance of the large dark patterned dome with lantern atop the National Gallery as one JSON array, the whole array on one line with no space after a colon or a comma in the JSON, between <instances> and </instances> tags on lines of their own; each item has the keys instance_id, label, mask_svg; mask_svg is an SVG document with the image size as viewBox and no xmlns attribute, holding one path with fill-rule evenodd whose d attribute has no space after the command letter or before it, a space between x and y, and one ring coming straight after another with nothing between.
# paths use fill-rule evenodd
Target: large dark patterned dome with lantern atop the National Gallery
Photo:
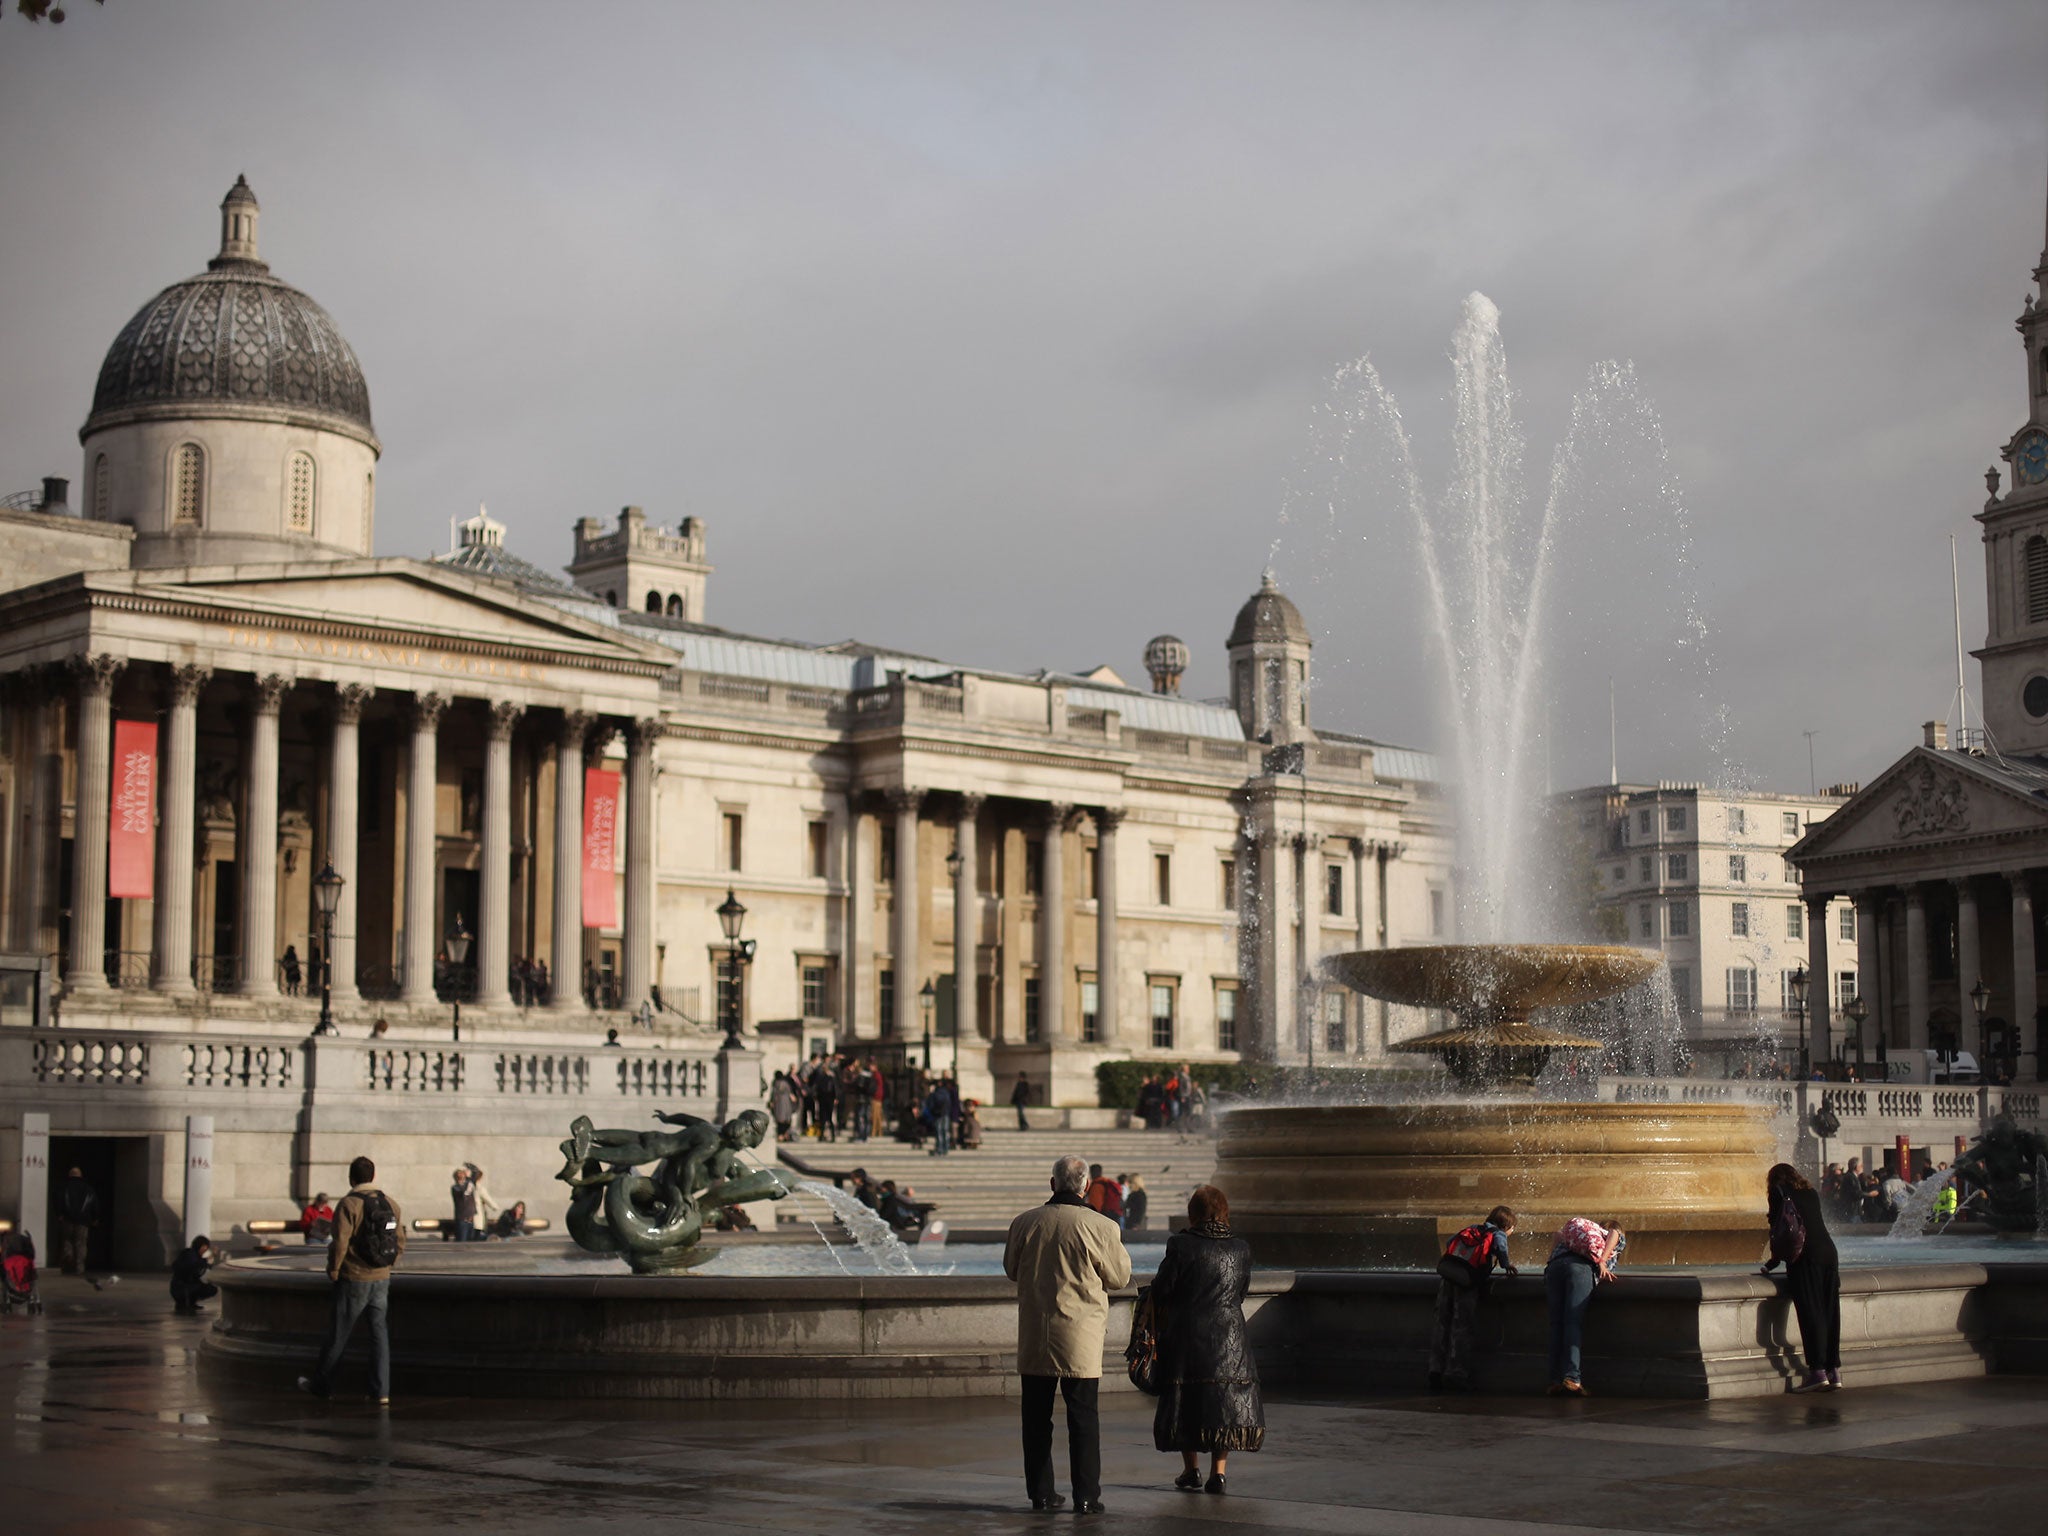
<instances>
[{"instance_id":1,"label":"large dark patterned dome with lantern atop the National Gallery","mask_svg":"<svg viewBox=\"0 0 2048 1536\"><path fill-rule=\"evenodd\" d=\"M121 328L80 438L127 422L242 416L352 436L375 453L362 365L328 311L256 256L246 178L221 203L221 254Z\"/></svg>"}]
</instances>

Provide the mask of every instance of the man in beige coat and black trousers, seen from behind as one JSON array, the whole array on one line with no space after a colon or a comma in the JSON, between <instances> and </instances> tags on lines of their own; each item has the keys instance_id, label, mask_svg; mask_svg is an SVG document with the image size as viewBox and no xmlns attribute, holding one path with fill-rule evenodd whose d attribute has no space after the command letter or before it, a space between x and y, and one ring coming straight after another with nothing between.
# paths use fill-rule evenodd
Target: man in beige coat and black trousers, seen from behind
<instances>
[{"instance_id":1,"label":"man in beige coat and black trousers, seen from behind","mask_svg":"<svg viewBox=\"0 0 2048 1536\"><path fill-rule=\"evenodd\" d=\"M1130 1249L1108 1217L1090 1210L1087 1163L1053 1163L1053 1198L1010 1223L1004 1274L1018 1282L1018 1374L1024 1378L1024 1489L1032 1509L1059 1509L1053 1491L1053 1395L1067 1399L1067 1462L1075 1513L1102 1513L1102 1343L1110 1292L1130 1284Z\"/></svg>"}]
</instances>

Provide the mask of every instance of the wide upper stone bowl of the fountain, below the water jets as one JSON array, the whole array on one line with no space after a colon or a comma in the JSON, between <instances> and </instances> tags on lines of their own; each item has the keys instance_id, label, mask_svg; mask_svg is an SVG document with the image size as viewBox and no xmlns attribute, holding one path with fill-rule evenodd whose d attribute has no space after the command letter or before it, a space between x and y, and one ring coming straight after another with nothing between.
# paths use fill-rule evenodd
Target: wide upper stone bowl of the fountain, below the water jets
<instances>
[{"instance_id":1,"label":"wide upper stone bowl of the fountain, below the water jets","mask_svg":"<svg viewBox=\"0 0 2048 1536\"><path fill-rule=\"evenodd\" d=\"M1466 1022L1520 1022L1532 1008L1589 1004L1647 981L1651 950L1626 944L1427 944L1323 958L1352 991L1409 1008L1444 1008Z\"/></svg>"}]
</instances>

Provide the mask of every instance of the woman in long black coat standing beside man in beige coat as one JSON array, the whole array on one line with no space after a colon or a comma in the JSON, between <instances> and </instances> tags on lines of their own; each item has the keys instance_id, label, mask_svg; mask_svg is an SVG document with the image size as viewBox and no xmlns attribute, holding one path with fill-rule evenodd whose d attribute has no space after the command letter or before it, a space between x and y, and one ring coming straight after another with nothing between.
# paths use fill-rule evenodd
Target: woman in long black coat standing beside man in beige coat
<instances>
[{"instance_id":1,"label":"woman in long black coat standing beside man in beige coat","mask_svg":"<svg viewBox=\"0 0 2048 1536\"><path fill-rule=\"evenodd\" d=\"M1174 1233L1151 1282L1159 1311L1159 1411L1153 1446L1178 1450L1174 1487L1204 1487L1198 1452L1210 1454L1208 1491L1223 1493L1233 1450L1266 1440L1260 1370L1245 1341L1251 1247L1231 1237L1231 1202L1214 1184L1188 1196L1188 1229Z\"/></svg>"}]
</instances>

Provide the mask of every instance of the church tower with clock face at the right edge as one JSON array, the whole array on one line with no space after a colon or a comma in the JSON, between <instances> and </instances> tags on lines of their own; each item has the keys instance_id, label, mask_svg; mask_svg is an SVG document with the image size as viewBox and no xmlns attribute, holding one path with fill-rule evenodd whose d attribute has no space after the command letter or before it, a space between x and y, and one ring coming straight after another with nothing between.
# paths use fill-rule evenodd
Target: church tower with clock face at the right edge
<instances>
[{"instance_id":1,"label":"church tower with clock face at the right edge","mask_svg":"<svg viewBox=\"0 0 2048 1536\"><path fill-rule=\"evenodd\" d=\"M2048 242L2015 322L2028 354L2028 416L2007 440L2011 489L1985 471L1985 725L2007 754L2048 754Z\"/></svg>"}]
</instances>

